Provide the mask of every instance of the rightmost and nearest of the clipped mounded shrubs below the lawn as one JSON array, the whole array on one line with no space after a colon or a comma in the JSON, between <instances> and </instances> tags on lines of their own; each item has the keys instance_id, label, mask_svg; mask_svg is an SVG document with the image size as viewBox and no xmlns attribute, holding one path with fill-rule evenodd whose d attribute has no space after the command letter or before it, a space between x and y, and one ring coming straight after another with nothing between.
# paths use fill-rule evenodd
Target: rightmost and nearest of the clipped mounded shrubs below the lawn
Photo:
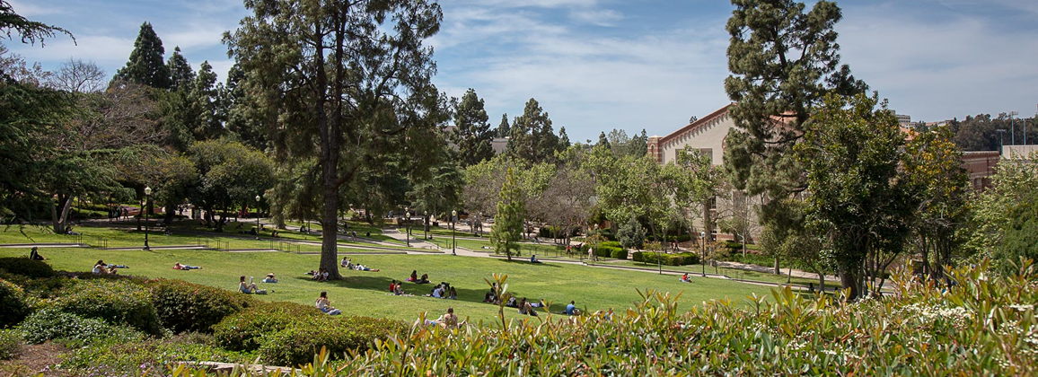
<instances>
[{"instance_id":1,"label":"rightmost and nearest of the clipped mounded shrubs below the lawn","mask_svg":"<svg viewBox=\"0 0 1038 377\"><path fill-rule=\"evenodd\" d=\"M304 365L312 361L322 347L339 358L349 350L366 350L375 340L385 340L404 328L400 321L371 317L310 317L265 336L260 358L276 366Z\"/></svg>"}]
</instances>

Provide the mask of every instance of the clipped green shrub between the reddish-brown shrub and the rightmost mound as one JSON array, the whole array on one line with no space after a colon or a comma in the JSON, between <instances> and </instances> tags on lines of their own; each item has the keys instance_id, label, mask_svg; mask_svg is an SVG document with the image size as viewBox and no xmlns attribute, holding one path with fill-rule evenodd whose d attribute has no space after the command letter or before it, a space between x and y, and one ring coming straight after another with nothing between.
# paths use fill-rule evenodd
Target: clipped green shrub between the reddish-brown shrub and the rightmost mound
<instances>
[{"instance_id":1,"label":"clipped green shrub between the reddish-brown shrub and the rightmost mound","mask_svg":"<svg viewBox=\"0 0 1038 377\"><path fill-rule=\"evenodd\" d=\"M213 326L213 339L231 351L255 351L264 336L280 331L294 321L325 316L317 307L292 302L255 302L227 316Z\"/></svg>"}]
</instances>

